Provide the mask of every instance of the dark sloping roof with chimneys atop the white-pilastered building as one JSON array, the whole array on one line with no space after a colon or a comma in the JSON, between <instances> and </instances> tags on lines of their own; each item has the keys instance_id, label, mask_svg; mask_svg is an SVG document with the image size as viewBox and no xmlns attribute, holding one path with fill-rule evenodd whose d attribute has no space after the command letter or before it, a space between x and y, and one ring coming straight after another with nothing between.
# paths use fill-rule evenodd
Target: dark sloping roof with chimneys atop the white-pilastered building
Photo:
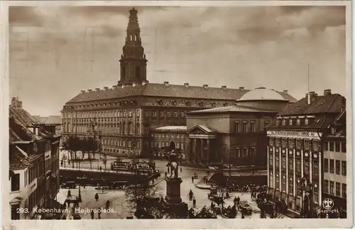
<instances>
[{"instance_id":1,"label":"dark sloping roof with chimneys atop the white-pilastered building","mask_svg":"<svg viewBox=\"0 0 355 230\"><path fill-rule=\"evenodd\" d=\"M280 116L303 115L303 114L338 114L342 111L342 106L346 100L340 94L330 94L327 96L316 96L307 104L307 98L302 98L300 101L289 104Z\"/></svg>"}]
</instances>

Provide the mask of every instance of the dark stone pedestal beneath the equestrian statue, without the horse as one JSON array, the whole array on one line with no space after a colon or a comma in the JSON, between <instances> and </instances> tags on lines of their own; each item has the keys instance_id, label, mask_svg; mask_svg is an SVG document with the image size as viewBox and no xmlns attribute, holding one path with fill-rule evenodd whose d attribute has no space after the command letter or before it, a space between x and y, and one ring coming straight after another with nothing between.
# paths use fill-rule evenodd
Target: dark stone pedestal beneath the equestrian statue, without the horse
<instances>
[{"instance_id":1,"label":"dark stone pedestal beneath the equestrian statue, without the horse","mask_svg":"<svg viewBox=\"0 0 355 230\"><path fill-rule=\"evenodd\" d=\"M185 216L188 212L188 207L185 202L182 202L180 195L180 184L182 182L180 177L170 178L166 177L166 196L162 202L165 212L170 212L178 216Z\"/></svg>"}]
</instances>

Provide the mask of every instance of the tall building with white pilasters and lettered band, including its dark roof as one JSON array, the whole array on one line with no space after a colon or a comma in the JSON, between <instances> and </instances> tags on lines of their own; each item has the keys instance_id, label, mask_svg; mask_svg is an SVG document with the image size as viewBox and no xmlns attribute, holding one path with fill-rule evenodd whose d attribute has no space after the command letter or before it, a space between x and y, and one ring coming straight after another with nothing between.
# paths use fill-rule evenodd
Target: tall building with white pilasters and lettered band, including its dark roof
<instances>
[{"instance_id":1,"label":"tall building with white pilasters and lettered band, including its dark roof","mask_svg":"<svg viewBox=\"0 0 355 230\"><path fill-rule=\"evenodd\" d=\"M324 154L332 154L324 150L325 140L344 110L344 97L330 89L322 96L310 92L266 128L269 196L301 216L314 217L322 209Z\"/></svg>"}]
</instances>

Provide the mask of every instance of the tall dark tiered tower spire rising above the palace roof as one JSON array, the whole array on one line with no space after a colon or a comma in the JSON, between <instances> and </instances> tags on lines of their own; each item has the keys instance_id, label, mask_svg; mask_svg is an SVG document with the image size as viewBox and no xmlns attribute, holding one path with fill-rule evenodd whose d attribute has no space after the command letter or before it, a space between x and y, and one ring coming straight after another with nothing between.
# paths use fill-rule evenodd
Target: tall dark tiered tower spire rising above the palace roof
<instances>
[{"instance_id":1,"label":"tall dark tiered tower spire rising above the palace roof","mask_svg":"<svg viewBox=\"0 0 355 230\"><path fill-rule=\"evenodd\" d=\"M119 84L142 83L146 81L146 55L141 41L141 29L138 24L138 11L129 11L129 23L126 42L121 55L121 79Z\"/></svg>"}]
</instances>

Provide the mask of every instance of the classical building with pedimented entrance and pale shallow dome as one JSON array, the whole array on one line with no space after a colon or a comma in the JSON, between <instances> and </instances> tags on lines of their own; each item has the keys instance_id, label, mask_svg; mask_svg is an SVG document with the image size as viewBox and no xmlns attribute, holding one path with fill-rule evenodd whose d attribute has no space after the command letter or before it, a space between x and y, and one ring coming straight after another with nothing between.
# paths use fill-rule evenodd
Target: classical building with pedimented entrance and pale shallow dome
<instances>
[{"instance_id":1,"label":"classical building with pedimented entrance and pale shallow dome","mask_svg":"<svg viewBox=\"0 0 355 230\"><path fill-rule=\"evenodd\" d=\"M259 87L235 105L189 112L189 161L266 168L264 128L290 103L279 92Z\"/></svg>"}]
</instances>

